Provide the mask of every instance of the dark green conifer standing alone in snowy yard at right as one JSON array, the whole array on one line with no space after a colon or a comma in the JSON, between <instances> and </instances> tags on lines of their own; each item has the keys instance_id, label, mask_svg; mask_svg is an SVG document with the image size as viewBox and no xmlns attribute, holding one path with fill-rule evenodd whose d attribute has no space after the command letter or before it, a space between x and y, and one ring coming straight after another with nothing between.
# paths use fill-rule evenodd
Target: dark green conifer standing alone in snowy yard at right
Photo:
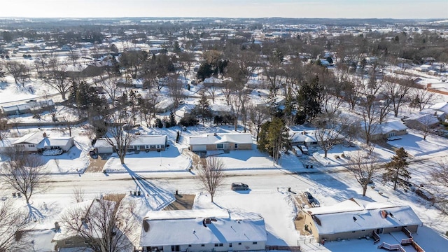
<instances>
[{"instance_id":1,"label":"dark green conifer standing alone in snowy yard at right","mask_svg":"<svg viewBox=\"0 0 448 252\"><path fill-rule=\"evenodd\" d=\"M411 178L407 170L409 166L408 158L409 154L405 151L405 148L401 147L395 151L391 162L386 164L386 173L383 175L383 179L393 182L393 190L396 190L397 184L403 186L405 181Z\"/></svg>"}]
</instances>

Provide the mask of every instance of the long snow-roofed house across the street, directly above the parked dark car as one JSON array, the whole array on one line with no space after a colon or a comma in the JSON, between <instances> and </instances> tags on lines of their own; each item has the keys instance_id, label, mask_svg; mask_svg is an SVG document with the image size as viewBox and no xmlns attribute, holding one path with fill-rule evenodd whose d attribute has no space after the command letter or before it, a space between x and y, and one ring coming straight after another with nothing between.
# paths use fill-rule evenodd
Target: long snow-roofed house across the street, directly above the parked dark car
<instances>
[{"instance_id":1,"label":"long snow-roofed house across the street, directly above the parked dark car","mask_svg":"<svg viewBox=\"0 0 448 252\"><path fill-rule=\"evenodd\" d=\"M189 138L190 151L236 151L251 150L250 133L214 133Z\"/></svg>"}]
</instances>

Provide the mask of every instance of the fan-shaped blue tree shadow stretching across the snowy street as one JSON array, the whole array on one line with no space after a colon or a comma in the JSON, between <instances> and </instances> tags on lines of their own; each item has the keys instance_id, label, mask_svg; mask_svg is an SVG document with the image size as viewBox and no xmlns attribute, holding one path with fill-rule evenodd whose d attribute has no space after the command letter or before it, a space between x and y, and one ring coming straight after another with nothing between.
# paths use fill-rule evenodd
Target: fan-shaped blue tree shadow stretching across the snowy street
<instances>
[{"instance_id":1,"label":"fan-shaped blue tree shadow stretching across the snowy street","mask_svg":"<svg viewBox=\"0 0 448 252\"><path fill-rule=\"evenodd\" d=\"M146 180L143 176L133 172L127 165L123 165L126 171L130 174L132 180L135 182L135 190L141 192L141 196L144 197L144 202L148 207L151 207L150 202L155 203L156 207L151 207L153 210L160 210L174 201L172 193L167 190L158 188L152 182Z\"/></svg>"}]
</instances>

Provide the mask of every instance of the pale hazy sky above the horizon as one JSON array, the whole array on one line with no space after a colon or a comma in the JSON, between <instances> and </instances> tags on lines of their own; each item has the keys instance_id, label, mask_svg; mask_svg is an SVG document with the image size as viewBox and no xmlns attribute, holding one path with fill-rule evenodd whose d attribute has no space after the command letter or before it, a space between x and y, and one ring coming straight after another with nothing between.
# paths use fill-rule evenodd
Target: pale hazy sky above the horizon
<instances>
[{"instance_id":1,"label":"pale hazy sky above the horizon","mask_svg":"<svg viewBox=\"0 0 448 252\"><path fill-rule=\"evenodd\" d=\"M3 0L0 17L448 19L448 0Z\"/></svg>"}]
</instances>

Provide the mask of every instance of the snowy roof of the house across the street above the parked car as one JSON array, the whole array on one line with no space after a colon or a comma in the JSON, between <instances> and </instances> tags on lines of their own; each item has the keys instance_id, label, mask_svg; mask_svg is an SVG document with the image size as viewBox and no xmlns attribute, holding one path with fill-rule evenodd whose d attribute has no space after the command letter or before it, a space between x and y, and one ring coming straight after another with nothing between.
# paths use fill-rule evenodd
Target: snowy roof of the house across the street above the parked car
<instances>
[{"instance_id":1,"label":"snowy roof of the house across the street above the parked car","mask_svg":"<svg viewBox=\"0 0 448 252\"><path fill-rule=\"evenodd\" d=\"M252 144L252 135L250 133L218 133L190 137L190 145L221 143Z\"/></svg>"}]
</instances>

